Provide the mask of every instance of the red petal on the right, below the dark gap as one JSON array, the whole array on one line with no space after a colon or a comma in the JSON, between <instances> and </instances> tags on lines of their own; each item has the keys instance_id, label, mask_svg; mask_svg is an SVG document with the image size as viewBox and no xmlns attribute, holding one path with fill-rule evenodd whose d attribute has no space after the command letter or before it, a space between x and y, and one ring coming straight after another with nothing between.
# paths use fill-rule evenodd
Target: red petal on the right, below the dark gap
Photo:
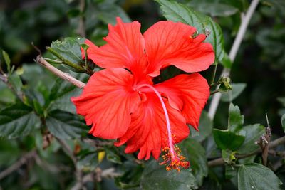
<instances>
[{"instance_id":1,"label":"red petal on the right, below the dark gap","mask_svg":"<svg viewBox=\"0 0 285 190\"><path fill-rule=\"evenodd\" d=\"M186 122L198 130L199 117L209 98L209 85L202 75L177 75L155 85L155 88L164 93L170 105L180 110Z\"/></svg>"}]
</instances>

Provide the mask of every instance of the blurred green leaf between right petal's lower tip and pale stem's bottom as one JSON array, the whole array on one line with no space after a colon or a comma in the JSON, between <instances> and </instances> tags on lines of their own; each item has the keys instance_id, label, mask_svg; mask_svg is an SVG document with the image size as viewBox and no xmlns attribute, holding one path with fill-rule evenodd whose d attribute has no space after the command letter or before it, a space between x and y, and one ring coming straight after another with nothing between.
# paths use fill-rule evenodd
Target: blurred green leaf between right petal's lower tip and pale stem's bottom
<instances>
[{"instance_id":1,"label":"blurred green leaf between right petal's lower tip and pale stem's bottom","mask_svg":"<svg viewBox=\"0 0 285 190\"><path fill-rule=\"evenodd\" d=\"M199 120L199 132L197 132L193 127L190 127L190 134L193 139L202 142L206 139L209 134L212 133L213 121L209 118L207 112L203 111Z\"/></svg>"}]
</instances>

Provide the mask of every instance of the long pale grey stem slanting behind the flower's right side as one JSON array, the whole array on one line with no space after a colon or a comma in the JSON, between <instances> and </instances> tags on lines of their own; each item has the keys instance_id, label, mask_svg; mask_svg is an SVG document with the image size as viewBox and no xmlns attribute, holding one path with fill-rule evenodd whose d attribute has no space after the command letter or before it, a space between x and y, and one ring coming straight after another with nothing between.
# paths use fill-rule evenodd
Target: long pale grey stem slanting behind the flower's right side
<instances>
[{"instance_id":1,"label":"long pale grey stem slanting behind the flower's right side","mask_svg":"<svg viewBox=\"0 0 285 190\"><path fill-rule=\"evenodd\" d=\"M234 43L232 45L231 51L229 52L229 59L234 61L234 58L237 56L237 51L239 50L239 46L242 43L242 39L244 38L244 34L247 31L247 26L249 24L250 19L252 18L252 14L254 14L255 9L257 8L257 5L259 4L259 0L253 0L252 3L249 6L249 9L247 11L247 14L243 17L242 16L242 24L239 27L239 31L237 32L237 36L234 39ZM230 69L224 68L221 74L222 77L228 77L230 73ZM219 85L217 85L217 89L219 89ZM214 115L216 114L217 107L219 105L219 100L221 100L221 93L216 93L212 97L212 102L209 105L209 118L212 120L214 119Z\"/></svg>"}]
</instances>

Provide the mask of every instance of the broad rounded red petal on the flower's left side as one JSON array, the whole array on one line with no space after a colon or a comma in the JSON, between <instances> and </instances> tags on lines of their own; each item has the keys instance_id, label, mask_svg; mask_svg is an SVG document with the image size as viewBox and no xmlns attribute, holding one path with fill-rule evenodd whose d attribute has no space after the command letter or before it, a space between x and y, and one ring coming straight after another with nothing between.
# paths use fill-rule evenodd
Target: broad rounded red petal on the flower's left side
<instances>
[{"instance_id":1,"label":"broad rounded red petal on the flower's left side","mask_svg":"<svg viewBox=\"0 0 285 190\"><path fill-rule=\"evenodd\" d=\"M71 100L86 124L93 124L91 134L116 139L128 130L140 96L133 90L133 75L123 68L114 68L94 73L83 93Z\"/></svg>"}]
</instances>

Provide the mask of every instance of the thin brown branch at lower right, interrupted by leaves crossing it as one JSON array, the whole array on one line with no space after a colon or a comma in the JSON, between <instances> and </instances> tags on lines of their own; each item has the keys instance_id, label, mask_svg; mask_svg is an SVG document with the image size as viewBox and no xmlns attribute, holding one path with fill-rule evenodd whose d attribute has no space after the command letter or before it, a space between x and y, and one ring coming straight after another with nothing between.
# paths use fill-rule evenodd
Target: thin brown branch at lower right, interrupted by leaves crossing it
<instances>
[{"instance_id":1,"label":"thin brown branch at lower right, interrupted by leaves crossing it","mask_svg":"<svg viewBox=\"0 0 285 190\"><path fill-rule=\"evenodd\" d=\"M285 144L285 137L280 137L279 139L272 141L269 144L269 149L274 149L275 147L278 147L280 144ZM242 159L242 158L246 158L246 157L251 157L251 156L253 156L255 154L259 154L259 153L261 153L261 149L257 149L256 151L251 152L249 154L240 154L240 155L238 154L238 155L236 155L236 157L239 159ZM222 158L213 159L213 160L208 162L209 167L217 167L217 166L220 166L223 164L225 164L225 162Z\"/></svg>"}]
</instances>

